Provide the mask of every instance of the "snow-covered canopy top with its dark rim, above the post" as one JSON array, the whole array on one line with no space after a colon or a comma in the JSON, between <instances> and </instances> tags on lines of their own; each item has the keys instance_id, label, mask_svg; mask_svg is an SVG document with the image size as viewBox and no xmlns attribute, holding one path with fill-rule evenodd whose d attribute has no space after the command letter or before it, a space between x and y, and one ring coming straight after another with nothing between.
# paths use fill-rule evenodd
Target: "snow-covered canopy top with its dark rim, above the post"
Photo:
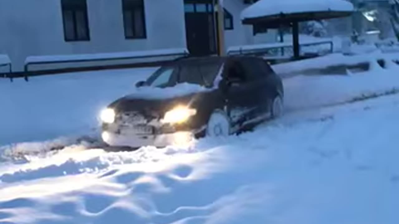
<instances>
[{"instance_id":1,"label":"snow-covered canopy top with its dark rim, above the post","mask_svg":"<svg viewBox=\"0 0 399 224\"><path fill-rule=\"evenodd\" d=\"M309 18L302 16L297 19L312 20L340 17L339 12L349 13L353 10L353 4L346 0L260 0L243 10L241 20L245 23L246 20L280 17L282 14L309 14Z\"/></svg>"}]
</instances>

